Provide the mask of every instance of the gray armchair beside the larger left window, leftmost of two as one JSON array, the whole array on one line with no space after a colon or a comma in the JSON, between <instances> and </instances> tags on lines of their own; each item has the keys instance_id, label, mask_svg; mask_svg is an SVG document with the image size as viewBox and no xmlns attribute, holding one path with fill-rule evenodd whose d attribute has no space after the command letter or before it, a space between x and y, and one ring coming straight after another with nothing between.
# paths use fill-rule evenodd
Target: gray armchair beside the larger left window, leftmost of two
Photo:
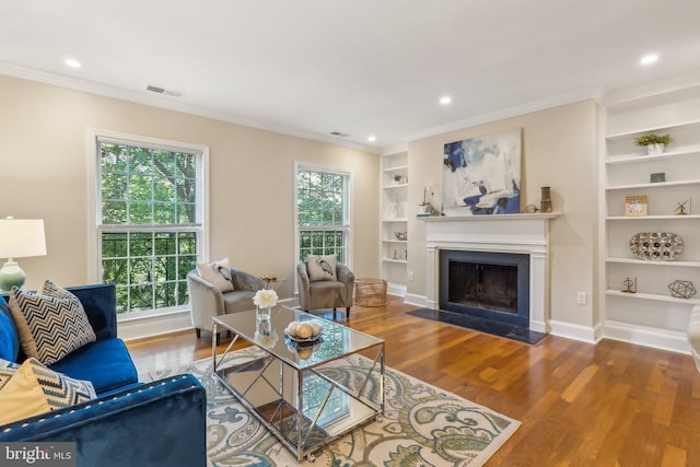
<instances>
[{"instance_id":1,"label":"gray armchair beside the larger left window, leftmost of two","mask_svg":"<svg viewBox=\"0 0 700 467\"><path fill-rule=\"evenodd\" d=\"M233 281L233 291L222 293L211 282L202 279L197 273L197 269L187 273L192 326L198 338L201 337L202 329L212 330L214 316L244 312L255 307L253 296L255 292L262 289L262 280L236 269L231 269L231 280Z\"/></svg>"}]
</instances>

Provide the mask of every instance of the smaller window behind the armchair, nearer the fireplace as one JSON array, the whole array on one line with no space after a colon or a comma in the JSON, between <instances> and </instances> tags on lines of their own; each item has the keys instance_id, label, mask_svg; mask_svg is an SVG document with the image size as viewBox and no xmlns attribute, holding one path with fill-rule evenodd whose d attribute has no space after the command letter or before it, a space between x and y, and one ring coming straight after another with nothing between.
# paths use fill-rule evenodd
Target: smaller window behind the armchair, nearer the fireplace
<instances>
[{"instance_id":1,"label":"smaller window behind the armchair, nearer the fireplace","mask_svg":"<svg viewBox=\"0 0 700 467\"><path fill-rule=\"evenodd\" d=\"M296 170L296 221L299 260L306 255L338 255L348 262L350 175L338 171L299 166Z\"/></svg>"}]
</instances>

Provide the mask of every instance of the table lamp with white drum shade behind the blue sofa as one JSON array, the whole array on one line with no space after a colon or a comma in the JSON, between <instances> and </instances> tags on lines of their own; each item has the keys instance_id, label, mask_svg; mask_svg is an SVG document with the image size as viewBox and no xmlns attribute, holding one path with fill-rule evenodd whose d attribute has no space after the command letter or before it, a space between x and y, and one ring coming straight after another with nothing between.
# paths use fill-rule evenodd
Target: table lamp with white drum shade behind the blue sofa
<instances>
[{"instance_id":1,"label":"table lamp with white drum shade behind the blue sofa","mask_svg":"<svg viewBox=\"0 0 700 467\"><path fill-rule=\"evenodd\" d=\"M46 234L43 219L0 219L0 258L8 261L0 269L0 292L12 285L22 288L26 275L14 258L46 255Z\"/></svg>"}]
</instances>

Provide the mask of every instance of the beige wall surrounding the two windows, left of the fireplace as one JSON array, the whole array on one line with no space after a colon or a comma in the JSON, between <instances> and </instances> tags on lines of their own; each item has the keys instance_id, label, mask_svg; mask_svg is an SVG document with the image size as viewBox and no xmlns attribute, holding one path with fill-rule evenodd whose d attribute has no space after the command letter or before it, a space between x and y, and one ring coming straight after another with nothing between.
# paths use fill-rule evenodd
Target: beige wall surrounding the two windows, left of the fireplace
<instances>
[{"instance_id":1,"label":"beige wall surrounding the two windows, left of the fireplace","mask_svg":"<svg viewBox=\"0 0 700 467\"><path fill-rule=\"evenodd\" d=\"M281 296L294 283L294 162L351 171L352 266L378 273L376 154L2 75L0 102L0 217L46 223L48 256L19 259L27 289L91 281L88 128L209 145L210 257L281 275Z\"/></svg>"}]
</instances>

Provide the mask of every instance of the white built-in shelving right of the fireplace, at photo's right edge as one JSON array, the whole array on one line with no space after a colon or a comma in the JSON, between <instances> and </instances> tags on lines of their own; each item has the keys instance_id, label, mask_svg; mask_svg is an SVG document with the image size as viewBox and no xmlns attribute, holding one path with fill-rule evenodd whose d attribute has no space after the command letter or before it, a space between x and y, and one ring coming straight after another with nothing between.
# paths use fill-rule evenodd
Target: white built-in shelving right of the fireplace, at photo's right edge
<instances>
[{"instance_id":1,"label":"white built-in shelving right of the fireplace, at photo's right edge","mask_svg":"<svg viewBox=\"0 0 700 467\"><path fill-rule=\"evenodd\" d=\"M700 86L608 105L602 120L605 320L615 324L617 336L623 328L632 341L649 339L639 343L687 350L677 336L687 329L700 294L673 296L668 287L675 280L690 281L700 292ZM662 154L646 154L634 140L651 132L668 133L674 141ZM652 174L664 174L664 180L652 183ZM625 215L630 196L646 197L648 215ZM689 210L679 215L677 207L686 200ZM640 232L680 235L680 258L638 259L629 245ZM622 292L628 281L635 284L635 293ZM650 328L653 336L638 332Z\"/></svg>"}]
</instances>

